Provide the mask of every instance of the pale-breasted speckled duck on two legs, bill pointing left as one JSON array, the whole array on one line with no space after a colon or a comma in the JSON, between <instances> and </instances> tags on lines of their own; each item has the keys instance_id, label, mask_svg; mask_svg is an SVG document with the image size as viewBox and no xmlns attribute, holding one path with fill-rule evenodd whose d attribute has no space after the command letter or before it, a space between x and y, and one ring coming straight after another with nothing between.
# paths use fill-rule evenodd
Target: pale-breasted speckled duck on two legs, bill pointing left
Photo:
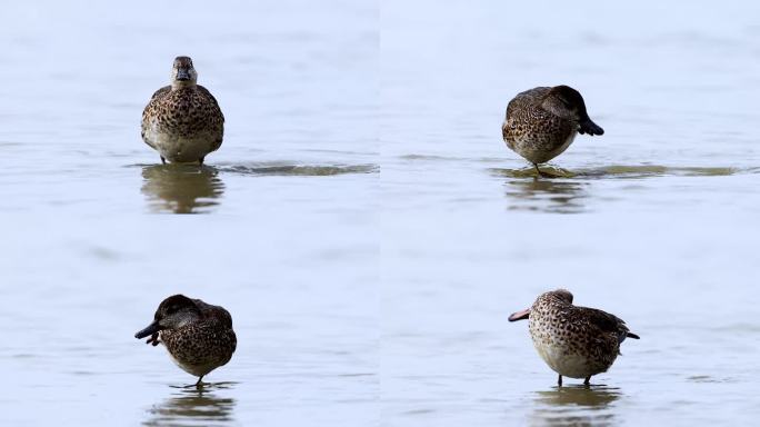
<instances>
[{"instance_id":1,"label":"pale-breasted speckled duck on two legs, bill pointing left","mask_svg":"<svg viewBox=\"0 0 760 427\"><path fill-rule=\"evenodd\" d=\"M529 320L530 337L543 361L562 376L586 378L606 373L626 338L639 339L626 322L609 312L572 305L564 289L541 294L531 308L512 314L509 321Z\"/></svg>"}]
</instances>

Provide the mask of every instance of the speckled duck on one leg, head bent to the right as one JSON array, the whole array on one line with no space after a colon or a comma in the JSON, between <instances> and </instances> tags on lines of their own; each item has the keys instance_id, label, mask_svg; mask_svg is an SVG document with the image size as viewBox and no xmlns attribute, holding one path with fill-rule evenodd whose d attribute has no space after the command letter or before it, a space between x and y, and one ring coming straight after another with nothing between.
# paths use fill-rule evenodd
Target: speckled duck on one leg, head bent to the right
<instances>
[{"instance_id":1,"label":"speckled duck on one leg, head bent to the right","mask_svg":"<svg viewBox=\"0 0 760 427\"><path fill-rule=\"evenodd\" d=\"M501 135L512 151L533 163L547 162L572 143L576 133L603 135L586 112L583 97L569 86L533 88L507 106Z\"/></svg>"}]
</instances>

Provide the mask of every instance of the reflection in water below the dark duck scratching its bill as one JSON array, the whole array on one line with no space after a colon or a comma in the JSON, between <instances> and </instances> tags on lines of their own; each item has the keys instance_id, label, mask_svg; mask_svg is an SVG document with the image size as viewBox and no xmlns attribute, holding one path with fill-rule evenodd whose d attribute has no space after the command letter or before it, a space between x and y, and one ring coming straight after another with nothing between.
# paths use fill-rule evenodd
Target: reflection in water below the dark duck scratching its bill
<instances>
[{"instance_id":1,"label":"reflection in water below the dark duck scratching its bill","mask_svg":"<svg viewBox=\"0 0 760 427\"><path fill-rule=\"evenodd\" d=\"M216 385L218 386L218 385ZM152 407L144 426L213 426L234 419L232 398L217 397L204 389L183 389L176 397Z\"/></svg>"}]
</instances>

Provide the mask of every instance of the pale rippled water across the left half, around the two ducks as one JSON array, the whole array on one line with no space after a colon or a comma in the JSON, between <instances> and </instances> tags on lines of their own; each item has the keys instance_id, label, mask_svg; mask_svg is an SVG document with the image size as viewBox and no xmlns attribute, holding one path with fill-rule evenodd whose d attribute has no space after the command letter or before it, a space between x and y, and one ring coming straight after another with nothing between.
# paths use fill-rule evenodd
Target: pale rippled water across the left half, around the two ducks
<instances>
[{"instance_id":1,"label":"pale rippled water across the left half, around the two ducks","mask_svg":"<svg viewBox=\"0 0 760 427\"><path fill-rule=\"evenodd\" d=\"M3 9L0 424L372 425L377 7L183 7ZM178 54L227 118L202 168L140 140ZM173 292L233 317L200 393L133 338Z\"/></svg>"}]
</instances>

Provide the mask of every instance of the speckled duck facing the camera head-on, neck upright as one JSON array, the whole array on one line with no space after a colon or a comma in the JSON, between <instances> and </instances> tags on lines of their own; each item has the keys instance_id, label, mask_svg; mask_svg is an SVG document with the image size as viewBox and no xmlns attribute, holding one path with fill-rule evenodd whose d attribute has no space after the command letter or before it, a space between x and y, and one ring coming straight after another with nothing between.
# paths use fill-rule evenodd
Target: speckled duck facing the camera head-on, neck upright
<instances>
[{"instance_id":1,"label":"speckled duck facing the camera head-on, neck upright","mask_svg":"<svg viewBox=\"0 0 760 427\"><path fill-rule=\"evenodd\" d=\"M203 165L206 156L221 146L224 116L217 99L197 81L192 60L177 57L171 86L157 90L142 111L142 140L164 163Z\"/></svg>"}]
</instances>

